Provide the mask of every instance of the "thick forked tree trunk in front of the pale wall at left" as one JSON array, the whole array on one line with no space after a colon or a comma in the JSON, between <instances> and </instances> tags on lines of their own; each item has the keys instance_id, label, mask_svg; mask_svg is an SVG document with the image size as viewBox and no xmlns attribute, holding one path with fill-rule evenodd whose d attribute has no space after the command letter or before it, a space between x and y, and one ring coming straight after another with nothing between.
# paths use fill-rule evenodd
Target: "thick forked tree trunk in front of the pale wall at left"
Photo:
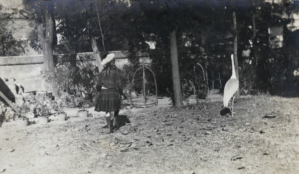
<instances>
[{"instance_id":1,"label":"thick forked tree trunk in front of the pale wall at left","mask_svg":"<svg viewBox=\"0 0 299 174\"><path fill-rule=\"evenodd\" d=\"M54 77L54 33L55 33L55 20L50 10L45 10L45 25L39 24L37 28L38 38L42 46L42 53L44 59L44 71ZM46 84L46 90L52 90L54 95L57 94L55 84Z\"/></svg>"}]
</instances>

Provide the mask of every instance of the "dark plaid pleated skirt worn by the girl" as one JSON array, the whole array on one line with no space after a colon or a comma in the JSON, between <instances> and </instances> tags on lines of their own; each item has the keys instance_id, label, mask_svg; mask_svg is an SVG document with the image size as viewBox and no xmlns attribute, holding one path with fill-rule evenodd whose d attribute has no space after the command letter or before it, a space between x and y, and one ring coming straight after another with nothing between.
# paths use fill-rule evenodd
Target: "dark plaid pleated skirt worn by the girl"
<instances>
[{"instance_id":1,"label":"dark plaid pleated skirt worn by the girl","mask_svg":"<svg viewBox=\"0 0 299 174\"><path fill-rule=\"evenodd\" d=\"M121 109L121 98L116 89L101 89L95 111L114 112Z\"/></svg>"}]
</instances>

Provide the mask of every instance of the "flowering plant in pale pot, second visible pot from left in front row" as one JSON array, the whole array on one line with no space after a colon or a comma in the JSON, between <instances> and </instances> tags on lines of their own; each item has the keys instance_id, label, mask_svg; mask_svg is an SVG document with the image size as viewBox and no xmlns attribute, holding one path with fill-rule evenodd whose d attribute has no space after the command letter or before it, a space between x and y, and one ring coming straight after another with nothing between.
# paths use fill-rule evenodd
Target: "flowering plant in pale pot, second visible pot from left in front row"
<instances>
[{"instance_id":1,"label":"flowering plant in pale pot, second visible pot from left in front row","mask_svg":"<svg viewBox=\"0 0 299 174\"><path fill-rule=\"evenodd\" d=\"M45 124L49 121L49 116L52 109L51 100L36 100L35 103L35 115L37 116L40 124Z\"/></svg>"}]
</instances>

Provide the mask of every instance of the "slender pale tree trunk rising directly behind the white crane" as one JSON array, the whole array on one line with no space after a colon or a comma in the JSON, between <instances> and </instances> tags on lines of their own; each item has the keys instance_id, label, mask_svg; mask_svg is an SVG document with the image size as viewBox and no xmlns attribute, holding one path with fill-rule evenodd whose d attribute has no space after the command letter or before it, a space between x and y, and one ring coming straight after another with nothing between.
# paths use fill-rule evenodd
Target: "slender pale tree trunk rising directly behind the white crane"
<instances>
[{"instance_id":1,"label":"slender pale tree trunk rising directly behind the white crane","mask_svg":"<svg viewBox=\"0 0 299 174\"><path fill-rule=\"evenodd\" d=\"M238 57L237 57L237 45L238 45L238 34L237 34L237 19L236 19L236 12L233 12L233 23L234 23L234 62L235 62L235 72L236 77L239 80L239 65L238 65ZM238 88L236 98L240 98L240 88Z\"/></svg>"}]
</instances>

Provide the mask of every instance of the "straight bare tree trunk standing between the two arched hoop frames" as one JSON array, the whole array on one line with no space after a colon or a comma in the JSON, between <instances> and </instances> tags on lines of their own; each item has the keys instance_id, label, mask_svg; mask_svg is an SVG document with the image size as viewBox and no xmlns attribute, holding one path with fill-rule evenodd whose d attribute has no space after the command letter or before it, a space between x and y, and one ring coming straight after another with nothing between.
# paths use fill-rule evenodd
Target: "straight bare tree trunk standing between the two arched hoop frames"
<instances>
[{"instance_id":1,"label":"straight bare tree trunk standing between the two arched hoop frames","mask_svg":"<svg viewBox=\"0 0 299 174\"><path fill-rule=\"evenodd\" d=\"M183 103L182 103L182 91L180 87L179 69L178 69L176 31L174 27L170 28L169 39L170 39L170 57L171 57L171 66L172 66L174 106L179 108L179 107L183 107Z\"/></svg>"}]
</instances>

